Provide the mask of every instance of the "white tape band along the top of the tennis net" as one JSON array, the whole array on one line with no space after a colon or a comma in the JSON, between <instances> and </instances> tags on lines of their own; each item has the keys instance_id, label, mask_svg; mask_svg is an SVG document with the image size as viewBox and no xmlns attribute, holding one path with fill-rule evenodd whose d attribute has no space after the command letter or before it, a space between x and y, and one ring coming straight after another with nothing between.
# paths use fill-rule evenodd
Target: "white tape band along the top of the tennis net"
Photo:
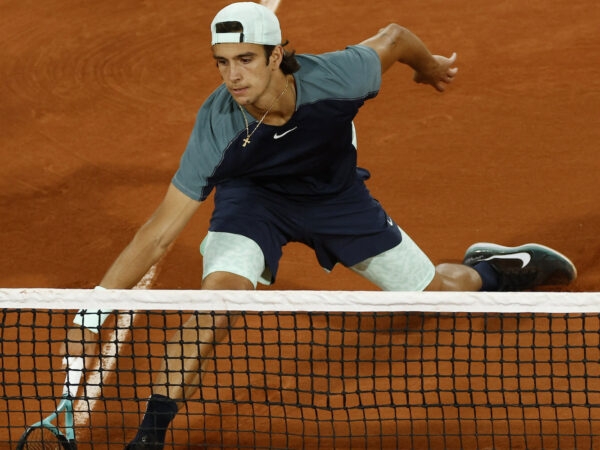
<instances>
[{"instance_id":1,"label":"white tape band along the top of the tennis net","mask_svg":"<svg viewBox=\"0 0 600 450\"><path fill-rule=\"evenodd\" d=\"M600 312L600 292L380 292L0 289L0 308L212 310Z\"/></svg>"}]
</instances>

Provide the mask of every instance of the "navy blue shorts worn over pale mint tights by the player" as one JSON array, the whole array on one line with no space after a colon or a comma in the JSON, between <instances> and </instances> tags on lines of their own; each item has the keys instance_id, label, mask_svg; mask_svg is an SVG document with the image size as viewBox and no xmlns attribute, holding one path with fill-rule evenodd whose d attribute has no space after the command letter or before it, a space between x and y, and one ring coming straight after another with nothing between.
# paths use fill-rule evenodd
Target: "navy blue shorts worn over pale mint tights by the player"
<instances>
[{"instance_id":1,"label":"navy blue shorts worn over pale mint tights by the player","mask_svg":"<svg viewBox=\"0 0 600 450\"><path fill-rule=\"evenodd\" d=\"M282 247L301 242L314 249L319 264L353 266L389 250L402 235L363 180L339 194L290 197L248 180L220 184L210 231L235 233L261 248L275 281Z\"/></svg>"}]
</instances>

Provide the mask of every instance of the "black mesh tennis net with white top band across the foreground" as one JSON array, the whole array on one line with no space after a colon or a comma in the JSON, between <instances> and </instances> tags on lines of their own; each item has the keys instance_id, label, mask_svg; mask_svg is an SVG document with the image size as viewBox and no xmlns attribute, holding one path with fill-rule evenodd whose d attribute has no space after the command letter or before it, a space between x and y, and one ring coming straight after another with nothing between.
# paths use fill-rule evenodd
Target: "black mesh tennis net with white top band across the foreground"
<instances>
[{"instance_id":1,"label":"black mesh tennis net with white top band across the foreground","mask_svg":"<svg viewBox=\"0 0 600 450\"><path fill-rule=\"evenodd\" d=\"M2 448L56 407L81 304L118 314L86 358L79 449L135 435L161 367L180 358L165 344L217 316L190 305L237 320L191 374L201 389L166 448L600 448L600 294L85 290L2 291ZM200 331L172 348L197 347Z\"/></svg>"}]
</instances>

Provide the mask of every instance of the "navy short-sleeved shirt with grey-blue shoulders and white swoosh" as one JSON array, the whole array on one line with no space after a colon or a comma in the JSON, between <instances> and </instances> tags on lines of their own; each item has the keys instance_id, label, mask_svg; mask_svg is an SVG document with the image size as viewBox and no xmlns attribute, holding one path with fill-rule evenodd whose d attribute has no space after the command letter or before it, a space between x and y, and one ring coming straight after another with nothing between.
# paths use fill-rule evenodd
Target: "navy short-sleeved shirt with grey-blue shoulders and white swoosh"
<instances>
[{"instance_id":1,"label":"navy short-sleeved shirt with grey-blue shoulders and white swoosh","mask_svg":"<svg viewBox=\"0 0 600 450\"><path fill-rule=\"evenodd\" d=\"M297 59L294 114L280 127L262 124L246 147L244 117L225 85L210 95L172 180L181 192L201 201L215 186L242 179L302 198L335 194L356 181L352 120L379 91L377 53L358 45Z\"/></svg>"}]
</instances>

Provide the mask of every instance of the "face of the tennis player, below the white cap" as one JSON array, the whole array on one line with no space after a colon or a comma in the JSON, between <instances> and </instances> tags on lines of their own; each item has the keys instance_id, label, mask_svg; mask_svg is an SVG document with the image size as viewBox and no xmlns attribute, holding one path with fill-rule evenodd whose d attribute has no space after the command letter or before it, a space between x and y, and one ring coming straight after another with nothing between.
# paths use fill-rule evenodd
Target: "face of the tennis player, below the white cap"
<instances>
[{"instance_id":1,"label":"face of the tennis player, below the white cap","mask_svg":"<svg viewBox=\"0 0 600 450\"><path fill-rule=\"evenodd\" d=\"M213 46L217 68L234 100L240 105L260 105L269 92L273 74L279 70L278 53L269 58L262 45L233 43Z\"/></svg>"}]
</instances>

